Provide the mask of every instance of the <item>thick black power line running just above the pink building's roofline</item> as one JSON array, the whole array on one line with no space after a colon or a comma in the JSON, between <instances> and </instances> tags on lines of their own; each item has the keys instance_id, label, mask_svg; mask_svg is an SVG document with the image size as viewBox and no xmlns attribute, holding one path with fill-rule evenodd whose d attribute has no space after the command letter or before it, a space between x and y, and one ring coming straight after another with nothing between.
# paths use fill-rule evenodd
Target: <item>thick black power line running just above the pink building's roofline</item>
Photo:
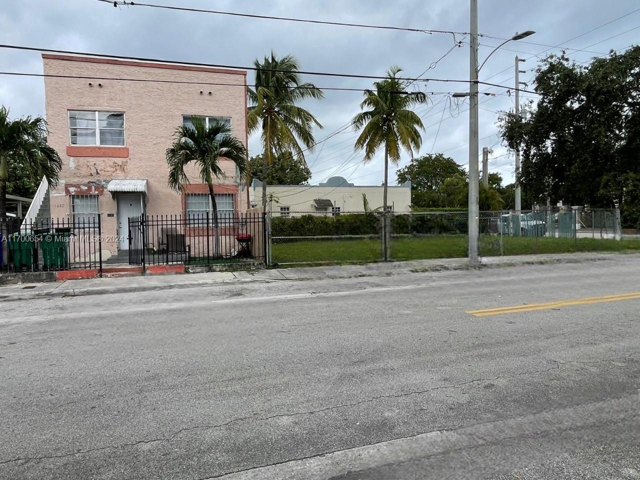
<instances>
[{"instance_id":1,"label":"thick black power line running just above the pink building's roofline","mask_svg":"<svg viewBox=\"0 0 640 480\"><path fill-rule=\"evenodd\" d=\"M100 0L101 1L101 0ZM47 53L63 53L69 55L77 55L77 56L92 56L92 57L102 57L102 58L113 58L119 60L136 60L136 61L150 61L156 63L168 63L173 65L195 65L198 67L213 67L213 68L230 68L237 70L253 70L260 72L285 72L291 73L287 70L280 70L278 68L259 68L259 67L239 67L237 65L220 65L216 63L196 63L190 61L175 61L175 60L163 60L159 58L144 58L144 57L131 57L131 56L117 56L117 55L109 55L109 54L96 54L96 53L87 53L87 52L76 52L70 50L54 50L54 49L43 49L36 47L25 47L24 45L8 45L8 44L0 44L0 48L6 49L14 49L14 50L22 50L22 51L34 51L34 52L47 52ZM310 72L305 70L298 70L296 72L300 75L316 75L316 76L324 76L324 77L344 77L344 78L363 78L363 79L373 79L373 80L385 80L387 77L376 76L376 75L360 75L360 74L339 74L334 72ZM469 80L455 80L455 79L438 79L438 78L406 78L406 77L397 77L398 80L402 81L433 81L433 82L451 82L451 83L470 83ZM487 82L478 82L480 84L486 84L491 86L496 86L499 88L509 89L510 87L504 85L498 85L495 83L487 83ZM513 90L513 88L511 88ZM522 88L518 89L520 92L526 93L536 93L530 90L524 90ZM391 92L393 93L393 92ZM403 92L406 93L406 92ZM408 92L412 93L412 92Z\"/></svg>"}]
</instances>

